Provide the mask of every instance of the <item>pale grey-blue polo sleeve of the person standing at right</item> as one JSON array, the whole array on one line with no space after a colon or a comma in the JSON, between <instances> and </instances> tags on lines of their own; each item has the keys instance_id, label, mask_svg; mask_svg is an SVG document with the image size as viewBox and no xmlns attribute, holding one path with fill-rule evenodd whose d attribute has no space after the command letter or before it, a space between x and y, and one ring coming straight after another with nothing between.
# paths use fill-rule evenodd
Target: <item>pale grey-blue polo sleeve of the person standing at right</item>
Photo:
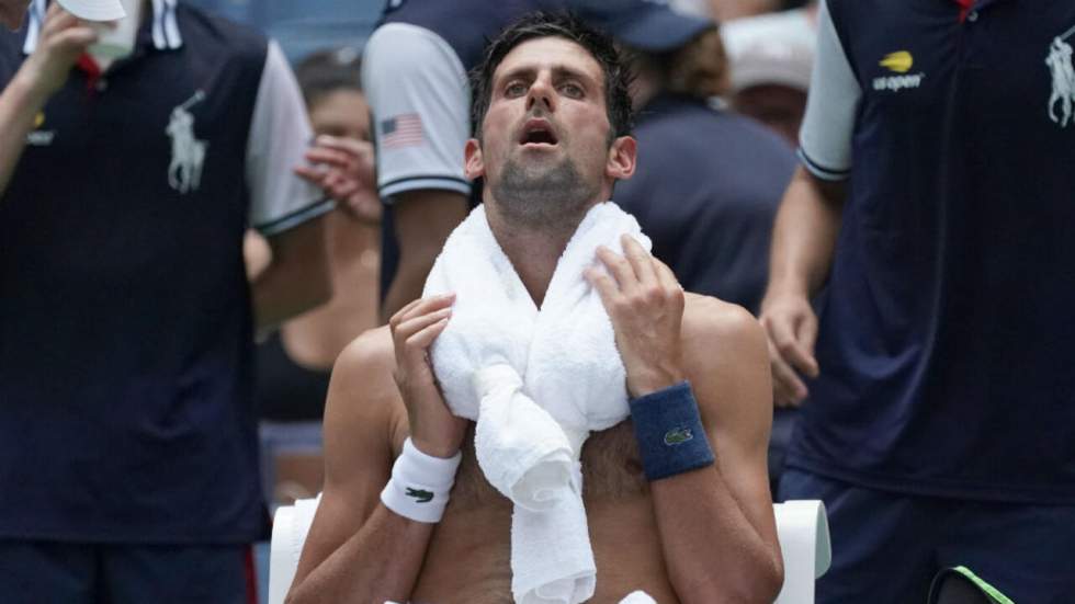
<instances>
[{"instance_id":1,"label":"pale grey-blue polo sleeve of the person standing at right","mask_svg":"<svg viewBox=\"0 0 1075 604\"><path fill-rule=\"evenodd\" d=\"M851 172L851 135L862 87L844 52L828 5L817 13L817 53L806 115L799 132L799 157L815 176L841 181Z\"/></svg>"}]
</instances>

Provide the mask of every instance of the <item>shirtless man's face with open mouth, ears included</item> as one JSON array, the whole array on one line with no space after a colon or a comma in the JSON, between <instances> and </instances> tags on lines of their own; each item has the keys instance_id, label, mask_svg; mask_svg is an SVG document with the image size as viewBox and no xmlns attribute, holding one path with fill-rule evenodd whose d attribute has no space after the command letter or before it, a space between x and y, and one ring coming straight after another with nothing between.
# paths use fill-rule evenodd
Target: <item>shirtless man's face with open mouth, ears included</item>
<instances>
[{"instance_id":1,"label":"shirtless man's face with open mouth, ears included","mask_svg":"<svg viewBox=\"0 0 1075 604\"><path fill-rule=\"evenodd\" d=\"M543 37L512 48L493 76L482 124L482 141L467 144L467 176L485 176L507 218L576 220L611 194L613 179L630 176L616 159L626 137L609 145L604 73L574 42Z\"/></svg>"}]
</instances>

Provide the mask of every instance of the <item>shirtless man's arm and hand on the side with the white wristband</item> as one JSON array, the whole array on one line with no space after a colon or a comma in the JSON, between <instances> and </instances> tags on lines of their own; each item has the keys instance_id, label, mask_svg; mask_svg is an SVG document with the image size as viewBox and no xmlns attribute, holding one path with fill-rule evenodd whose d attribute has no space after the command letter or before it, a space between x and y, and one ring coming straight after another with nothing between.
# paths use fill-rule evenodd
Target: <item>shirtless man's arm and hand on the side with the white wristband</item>
<instances>
[{"instance_id":1,"label":"shirtless man's arm and hand on the side with the white wristband","mask_svg":"<svg viewBox=\"0 0 1075 604\"><path fill-rule=\"evenodd\" d=\"M392 318L391 335L367 332L337 362L325 411L325 491L290 604L409 600L434 525L392 512L380 493L405 434L438 457L462 443L466 421L449 412L427 357L453 301L416 300Z\"/></svg>"}]
</instances>

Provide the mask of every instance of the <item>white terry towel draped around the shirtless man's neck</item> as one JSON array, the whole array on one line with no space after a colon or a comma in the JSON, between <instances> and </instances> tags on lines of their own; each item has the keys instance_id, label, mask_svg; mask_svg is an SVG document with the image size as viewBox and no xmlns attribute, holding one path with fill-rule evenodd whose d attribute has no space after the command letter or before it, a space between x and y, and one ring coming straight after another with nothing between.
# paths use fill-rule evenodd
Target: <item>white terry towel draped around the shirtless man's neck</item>
<instances>
[{"instance_id":1,"label":"white terry towel draped around the shirtless man's neck","mask_svg":"<svg viewBox=\"0 0 1075 604\"><path fill-rule=\"evenodd\" d=\"M622 253L638 223L611 202L592 207L556 264L539 310L478 206L449 237L423 296L455 293L452 319L432 346L444 398L475 420L486 479L514 503L516 602L584 602L597 570L578 465L591 431L629 414L623 362L600 296L584 278L595 251ZM599 264L599 263L598 263Z\"/></svg>"}]
</instances>

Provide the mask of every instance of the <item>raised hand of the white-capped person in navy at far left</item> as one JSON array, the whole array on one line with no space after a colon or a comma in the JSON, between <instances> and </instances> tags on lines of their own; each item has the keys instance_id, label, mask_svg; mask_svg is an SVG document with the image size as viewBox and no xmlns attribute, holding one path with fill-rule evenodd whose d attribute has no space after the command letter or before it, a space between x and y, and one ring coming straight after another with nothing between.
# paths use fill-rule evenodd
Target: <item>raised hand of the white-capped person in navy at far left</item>
<instances>
[{"instance_id":1,"label":"raised hand of the white-capped person in navy at far left","mask_svg":"<svg viewBox=\"0 0 1075 604\"><path fill-rule=\"evenodd\" d=\"M97 32L53 2L39 36L15 81L44 102L64 86L79 55L97 42Z\"/></svg>"}]
</instances>

